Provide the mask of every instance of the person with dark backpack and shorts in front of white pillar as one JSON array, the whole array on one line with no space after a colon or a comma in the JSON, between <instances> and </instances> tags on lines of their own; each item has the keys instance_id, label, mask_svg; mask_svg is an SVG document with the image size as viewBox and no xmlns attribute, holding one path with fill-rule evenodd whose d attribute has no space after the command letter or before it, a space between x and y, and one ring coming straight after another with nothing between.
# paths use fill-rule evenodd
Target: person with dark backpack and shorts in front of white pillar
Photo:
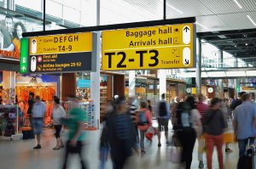
<instances>
[{"instance_id":1,"label":"person with dark backpack and shorts in front of white pillar","mask_svg":"<svg viewBox=\"0 0 256 169\"><path fill-rule=\"evenodd\" d=\"M157 110L156 110L156 117L157 117L157 121L158 121L158 130L160 132L165 131L165 135L166 135L166 144L169 144L168 142L168 123L169 123L169 119L170 119L170 110L169 110L169 106L166 102L166 94L162 93L161 95L161 100L157 105ZM158 147L161 146L161 143L158 144Z\"/></svg>"}]
</instances>

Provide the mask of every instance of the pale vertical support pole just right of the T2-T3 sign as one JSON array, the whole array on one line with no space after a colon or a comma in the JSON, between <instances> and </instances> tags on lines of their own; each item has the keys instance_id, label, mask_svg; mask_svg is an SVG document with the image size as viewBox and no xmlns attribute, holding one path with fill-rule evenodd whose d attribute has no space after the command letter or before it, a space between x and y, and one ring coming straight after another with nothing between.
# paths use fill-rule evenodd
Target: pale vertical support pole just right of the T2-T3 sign
<instances>
[{"instance_id":1,"label":"pale vertical support pole just right of the T2-T3 sign","mask_svg":"<svg viewBox=\"0 0 256 169\"><path fill-rule=\"evenodd\" d=\"M195 86L196 93L201 93L201 38L198 38L198 54L196 55L196 76L195 76Z\"/></svg>"}]
</instances>

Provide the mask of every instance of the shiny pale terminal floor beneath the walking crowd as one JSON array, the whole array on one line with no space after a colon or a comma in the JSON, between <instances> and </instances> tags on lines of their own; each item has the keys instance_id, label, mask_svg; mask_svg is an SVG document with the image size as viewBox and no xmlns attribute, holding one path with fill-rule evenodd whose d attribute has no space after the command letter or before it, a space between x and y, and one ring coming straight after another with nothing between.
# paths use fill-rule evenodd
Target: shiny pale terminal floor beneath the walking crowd
<instances>
[{"instance_id":1,"label":"shiny pale terminal floor beneath the walking crowd","mask_svg":"<svg viewBox=\"0 0 256 169\"><path fill-rule=\"evenodd\" d=\"M32 149L35 140L14 140L0 141L0 168L1 169L58 169L61 168L63 149L53 150L55 138L53 130L44 130L42 149ZM162 133L164 135L164 133ZM88 132L86 149L84 149L84 159L87 161L88 168L99 168L98 141L100 131ZM166 147L166 140L162 139L162 147L157 147L157 138L154 137L153 144L146 143L147 153L138 157L134 155L126 165L130 169L164 169L181 168L169 161L170 149ZM226 169L235 169L238 158L237 144L230 144L233 153L224 154L224 165ZM206 156L204 156L206 164ZM195 144L193 162L191 169L198 168L197 161L197 143ZM71 156L69 168L77 169L79 166L78 156ZM111 169L111 161L108 160L107 168ZM205 167L207 168L207 167ZM213 169L218 168L216 150L213 154Z\"/></svg>"}]
</instances>

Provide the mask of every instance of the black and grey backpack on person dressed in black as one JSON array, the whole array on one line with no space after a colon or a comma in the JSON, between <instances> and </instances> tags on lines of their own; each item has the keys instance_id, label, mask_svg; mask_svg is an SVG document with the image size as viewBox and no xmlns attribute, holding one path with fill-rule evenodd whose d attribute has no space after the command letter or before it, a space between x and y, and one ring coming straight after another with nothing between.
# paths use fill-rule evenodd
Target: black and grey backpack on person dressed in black
<instances>
[{"instance_id":1,"label":"black and grey backpack on person dressed in black","mask_svg":"<svg viewBox=\"0 0 256 169\"><path fill-rule=\"evenodd\" d=\"M177 105L177 128L182 130L192 129L191 108L186 102Z\"/></svg>"}]
</instances>

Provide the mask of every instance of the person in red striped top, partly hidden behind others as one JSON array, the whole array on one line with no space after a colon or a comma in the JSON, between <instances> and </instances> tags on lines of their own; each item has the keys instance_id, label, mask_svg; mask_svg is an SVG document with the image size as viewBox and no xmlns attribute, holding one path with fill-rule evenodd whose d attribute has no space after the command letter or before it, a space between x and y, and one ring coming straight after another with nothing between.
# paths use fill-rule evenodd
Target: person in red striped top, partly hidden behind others
<instances>
[{"instance_id":1,"label":"person in red striped top, partly hidden behind others","mask_svg":"<svg viewBox=\"0 0 256 169\"><path fill-rule=\"evenodd\" d=\"M204 123L203 117L205 116L207 110L209 109L209 106L205 104L206 97L203 94L199 94L198 102L196 103L196 109L199 111L201 115L201 124ZM199 168L204 168L204 162L203 162L203 152L205 148L205 138L203 137L203 134L201 136L198 136L198 161L199 161Z\"/></svg>"}]
</instances>

